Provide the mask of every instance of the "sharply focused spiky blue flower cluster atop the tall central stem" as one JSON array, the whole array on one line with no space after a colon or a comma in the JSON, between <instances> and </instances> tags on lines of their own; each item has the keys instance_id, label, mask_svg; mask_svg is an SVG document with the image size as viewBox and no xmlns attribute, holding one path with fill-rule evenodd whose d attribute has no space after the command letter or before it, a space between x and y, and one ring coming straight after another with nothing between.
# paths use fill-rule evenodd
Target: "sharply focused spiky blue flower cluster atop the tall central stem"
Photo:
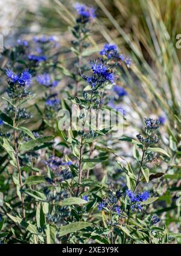
<instances>
[{"instance_id":1,"label":"sharply focused spiky blue flower cluster atop the tall central stem","mask_svg":"<svg viewBox=\"0 0 181 256\"><path fill-rule=\"evenodd\" d=\"M86 76L83 75L83 78L87 83L94 89L95 87L99 87L102 84L109 82L111 84L115 81L115 76L113 71L109 69L103 62L101 61L90 61L90 66L94 75Z\"/></svg>"}]
</instances>

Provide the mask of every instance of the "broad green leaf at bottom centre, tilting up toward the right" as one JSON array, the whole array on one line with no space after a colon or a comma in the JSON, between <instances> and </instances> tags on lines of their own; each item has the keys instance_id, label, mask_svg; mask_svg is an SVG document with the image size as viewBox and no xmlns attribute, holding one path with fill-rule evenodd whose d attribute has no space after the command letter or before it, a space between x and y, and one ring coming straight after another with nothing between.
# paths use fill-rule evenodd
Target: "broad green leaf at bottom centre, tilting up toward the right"
<instances>
[{"instance_id":1,"label":"broad green leaf at bottom centre, tilting up toward the right","mask_svg":"<svg viewBox=\"0 0 181 256\"><path fill-rule=\"evenodd\" d=\"M78 222L68 224L66 226L62 226L62 227L60 227L59 236L62 237L63 235L67 235L70 233L80 231L81 229L84 229L91 225L92 225L92 223L89 223L89 222L78 221Z\"/></svg>"}]
</instances>

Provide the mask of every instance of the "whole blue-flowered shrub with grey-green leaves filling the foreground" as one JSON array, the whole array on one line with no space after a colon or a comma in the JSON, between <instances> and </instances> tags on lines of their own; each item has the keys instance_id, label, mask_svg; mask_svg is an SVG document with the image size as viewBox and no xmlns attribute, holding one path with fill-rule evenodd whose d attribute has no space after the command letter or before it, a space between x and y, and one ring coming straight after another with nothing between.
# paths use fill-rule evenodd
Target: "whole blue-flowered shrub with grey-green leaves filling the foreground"
<instances>
[{"instance_id":1,"label":"whole blue-flowered shrub with grey-green leaves filling the foreground","mask_svg":"<svg viewBox=\"0 0 181 256\"><path fill-rule=\"evenodd\" d=\"M144 128L129 123L122 76L132 75L134 63L115 44L90 56L96 10L79 3L74 8L68 67L58 58L55 36L18 39L2 52L0 241L179 243L179 153L162 141L166 118L145 117ZM60 129L68 123L60 113L72 116L72 104L78 126L72 121ZM124 134L113 136L118 126L104 123L104 116L97 126L95 110L116 113L118 121L121 116ZM141 132L127 136L130 124ZM122 145L133 153L125 154ZM169 221L174 214L175 229Z\"/></svg>"}]
</instances>

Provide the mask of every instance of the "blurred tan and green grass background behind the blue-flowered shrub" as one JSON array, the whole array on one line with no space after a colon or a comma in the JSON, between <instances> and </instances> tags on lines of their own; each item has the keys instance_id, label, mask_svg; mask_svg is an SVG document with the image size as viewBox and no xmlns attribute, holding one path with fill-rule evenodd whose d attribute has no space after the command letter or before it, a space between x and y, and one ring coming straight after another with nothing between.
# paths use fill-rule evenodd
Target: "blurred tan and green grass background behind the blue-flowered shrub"
<instances>
[{"instance_id":1,"label":"blurred tan and green grass background behind the blue-flowered shrub","mask_svg":"<svg viewBox=\"0 0 181 256\"><path fill-rule=\"evenodd\" d=\"M71 33L67 28L74 25L73 4L77 1L39 0L31 4L9 1L13 2L16 15L7 38L31 38L34 33L57 35L62 53L60 61L68 66L73 57ZM98 52L105 42L115 42L133 59L131 72L125 70L122 75L122 83L130 95L125 100L130 124L135 125L135 120L143 120L145 116L167 116L167 132L173 133L179 144L181 49L176 49L176 35L181 33L181 0L80 2L97 8L89 38L92 52ZM66 86L66 80L62 85Z\"/></svg>"}]
</instances>

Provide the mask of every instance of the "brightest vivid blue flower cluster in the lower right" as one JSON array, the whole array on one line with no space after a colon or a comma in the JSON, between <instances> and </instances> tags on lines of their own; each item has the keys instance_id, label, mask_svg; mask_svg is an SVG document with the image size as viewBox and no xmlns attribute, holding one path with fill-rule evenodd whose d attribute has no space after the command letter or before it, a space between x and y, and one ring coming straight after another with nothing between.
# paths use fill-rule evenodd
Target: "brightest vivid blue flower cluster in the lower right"
<instances>
[{"instance_id":1,"label":"brightest vivid blue flower cluster in the lower right","mask_svg":"<svg viewBox=\"0 0 181 256\"><path fill-rule=\"evenodd\" d=\"M143 207L141 206L141 203L143 201L147 201L148 198L150 198L150 192L148 191L135 194L132 192L132 190L128 189L126 190L126 194L130 198L132 211L135 211L135 209L142 211Z\"/></svg>"}]
</instances>

